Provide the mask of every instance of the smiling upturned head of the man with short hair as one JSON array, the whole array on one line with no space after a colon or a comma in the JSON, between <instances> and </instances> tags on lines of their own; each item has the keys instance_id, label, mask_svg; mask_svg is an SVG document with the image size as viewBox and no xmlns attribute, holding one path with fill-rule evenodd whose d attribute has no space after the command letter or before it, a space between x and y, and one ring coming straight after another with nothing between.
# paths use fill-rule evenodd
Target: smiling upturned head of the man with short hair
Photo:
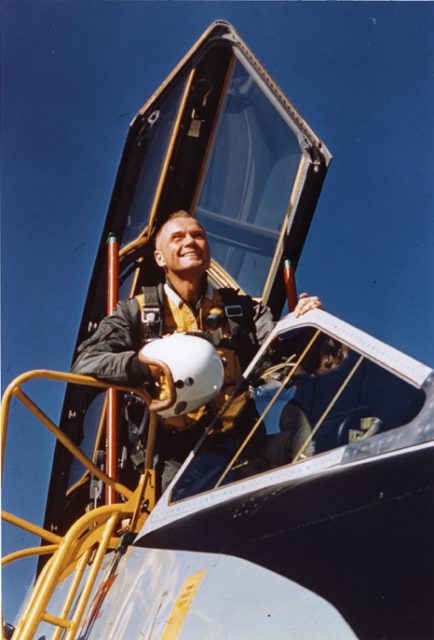
<instances>
[{"instance_id":1,"label":"smiling upturned head of the man with short hair","mask_svg":"<svg viewBox=\"0 0 434 640\"><path fill-rule=\"evenodd\" d=\"M201 276L210 264L205 231L194 218L174 218L163 225L155 247L155 261L167 274Z\"/></svg>"}]
</instances>

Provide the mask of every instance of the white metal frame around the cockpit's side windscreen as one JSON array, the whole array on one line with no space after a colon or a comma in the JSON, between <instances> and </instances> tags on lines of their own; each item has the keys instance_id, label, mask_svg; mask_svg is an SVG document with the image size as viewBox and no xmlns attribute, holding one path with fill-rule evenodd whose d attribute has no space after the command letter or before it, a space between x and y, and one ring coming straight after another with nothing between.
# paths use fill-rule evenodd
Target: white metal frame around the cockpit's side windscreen
<instances>
[{"instance_id":1,"label":"white metal frame around the cockpit's side windscreen","mask_svg":"<svg viewBox=\"0 0 434 640\"><path fill-rule=\"evenodd\" d=\"M252 373L277 336L290 329L306 325L327 332L329 336L338 339L350 349L357 349L359 354L369 358L371 362L377 363L383 369L423 392L425 401L418 414L406 424L378 433L370 438L355 440L330 451L318 453L313 457L300 459L277 469L267 470L246 479L236 480L228 485L218 486L197 495L173 501L173 488L194 460L196 452L200 449L201 443L199 443L150 514L137 536L137 542L148 533L171 522L203 509L229 502L240 496L245 496L247 501L254 500L254 496L258 493L268 495L271 492L271 495L274 495L282 484L289 485L313 476L326 475L343 468L367 465L373 460L378 462L380 459L396 457L434 446L433 370L325 311L311 311L307 319L306 317L297 319L293 314L289 314L278 322L266 343L245 371L244 376L247 378Z\"/></svg>"}]
</instances>

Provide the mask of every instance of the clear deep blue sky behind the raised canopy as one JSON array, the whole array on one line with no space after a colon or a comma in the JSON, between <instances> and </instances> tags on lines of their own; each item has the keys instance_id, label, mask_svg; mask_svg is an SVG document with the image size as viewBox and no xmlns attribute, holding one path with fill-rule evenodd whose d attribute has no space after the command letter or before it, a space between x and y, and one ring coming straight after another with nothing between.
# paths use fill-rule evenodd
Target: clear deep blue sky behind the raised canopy
<instances>
[{"instance_id":1,"label":"clear deep blue sky behind the raised canopy","mask_svg":"<svg viewBox=\"0 0 434 640\"><path fill-rule=\"evenodd\" d=\"M334 156L299 289L434 366L433 3L2 1L1 13L3 389L29 369L68 370L128 123L217 18ZM57 420L61 393L45 389ZM51 441L18 417L3 506L42 522ZM21 538L7 528L4 552ZM9 619L31 568L12 575Z\"/></svg>"}]
</instances>

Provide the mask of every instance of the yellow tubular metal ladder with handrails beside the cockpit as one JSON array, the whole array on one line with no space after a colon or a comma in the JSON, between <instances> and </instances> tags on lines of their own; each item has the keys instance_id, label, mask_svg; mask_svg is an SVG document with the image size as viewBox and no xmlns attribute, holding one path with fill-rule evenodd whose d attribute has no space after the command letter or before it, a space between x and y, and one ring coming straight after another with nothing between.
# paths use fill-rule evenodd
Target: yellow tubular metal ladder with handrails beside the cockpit
<instances>
[{"instance_id":1,"label":"yellow tubular metal ladder with handrails beside the cockpit","mask_svg":"<svg viewBox=\"0 0 434 640\"><path fill-rule=\"evenodd\" d=\"M124 502L98 507L84 514L64 536L47 531L13 514L2 512L4 521L20 527L49 543L13 552L2 559L2 566L22 558L51 555L39 574L27 600L25 609L13 633L14 640L30 640L34 637L38 626L44 621L56 627L53 635L54 640L58 640L61 636L68 640L73 640L80 627L106 552L117 548L121 536L124 536L125 533L137 532L155 505L155 472L150 468L152 451L149 451L149 448L153 449L155 441L156 415L152 411L153 401L143 389L124 386L115 387L120 391L134 392L151 409L147 441L147 464L145 464L145 471L140 477L136 489L131 491L120 482L110 478L85 456L79 447L22 390L24 383L35 379L87 385L101 389L107 389L111 385L100 382L90 376L47 370L31 371L19 376L9 385L3 396L1 407L2 462L4 460L11 401L12 398L17 398L91 474L105 485L112 487L124 499ZM87 570L88 567L89 569ZM70 575L69 588L63 604L60 606L60 613L49 613L47 606L56 587ZM59 603L56 603L56 610L58 609Z\"/></svg>"}]
</instances>

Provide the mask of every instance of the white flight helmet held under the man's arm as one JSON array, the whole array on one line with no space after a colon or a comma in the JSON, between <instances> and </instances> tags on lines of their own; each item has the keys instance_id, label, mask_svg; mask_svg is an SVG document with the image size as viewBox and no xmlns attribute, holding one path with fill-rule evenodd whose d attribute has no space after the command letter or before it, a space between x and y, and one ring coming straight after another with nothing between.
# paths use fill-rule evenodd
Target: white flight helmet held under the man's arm
<instances>
[{"instance_id":1,"label":"white flight helmet held under the man's arm","mask_svg":"<svg viewBox=\"0 0 434 640\"><path fill-rule=\"evenodd\" d=\"M194 411L213 400L223 386L222 360L204 338L174 333L148 342L140 353L150 360L160 360L172 372L176 400L168 409L157 412L163 418Z\"/></svg>"}]
</instances>

